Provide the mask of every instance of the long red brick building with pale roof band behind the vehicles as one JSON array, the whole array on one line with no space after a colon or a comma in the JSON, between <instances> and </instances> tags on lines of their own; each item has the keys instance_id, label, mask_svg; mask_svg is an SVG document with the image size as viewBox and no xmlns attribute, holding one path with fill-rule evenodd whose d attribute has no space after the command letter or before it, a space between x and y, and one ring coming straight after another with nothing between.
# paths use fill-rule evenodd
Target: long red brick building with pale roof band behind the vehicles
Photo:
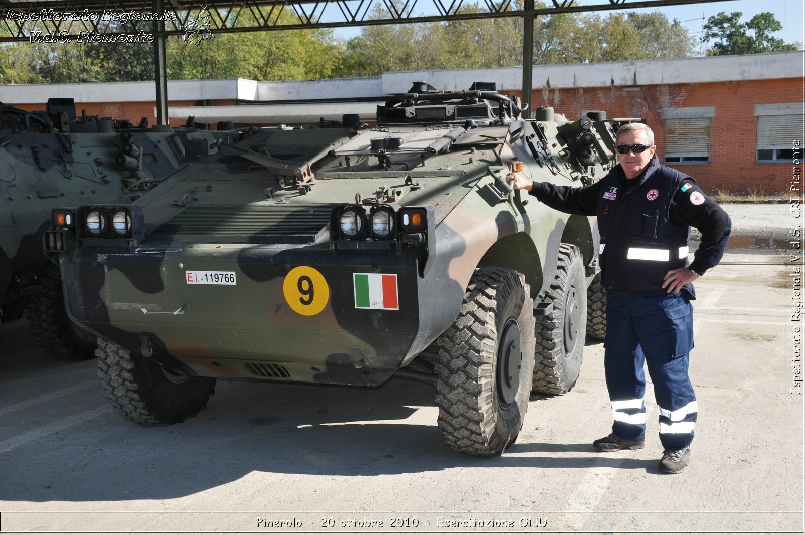
<instances>
[{"instance_id":1,"label":"long red brick building with pale roof band behind the vehicles","mask_svg":"<svg viewBox=\"0 0 805 535\"><path fill-rule=\"evenodd\" d=\"M781 193L805 139L805 52L646 60L534 68L532 109L553 106L569 119L588 110L609 118L638 117L654 130L663 163L694 176L710 193ZM522 97L521 68L386 73L380 77L316 81L169 81L171 124L311 124L360 114L413 81L467 89L495 81ZM48 97L73 97L78 110L155 122L154 82L0 85L0 101L41 110ZM795 146L795 143L800 143Z\"/></svg>"}]
</instances>

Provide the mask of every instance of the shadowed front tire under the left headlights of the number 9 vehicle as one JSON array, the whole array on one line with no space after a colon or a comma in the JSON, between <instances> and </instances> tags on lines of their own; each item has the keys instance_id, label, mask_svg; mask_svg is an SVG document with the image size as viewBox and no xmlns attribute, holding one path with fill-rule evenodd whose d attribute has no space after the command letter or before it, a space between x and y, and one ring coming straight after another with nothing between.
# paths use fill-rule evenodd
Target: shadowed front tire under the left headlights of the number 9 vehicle
<instances>
[{"instance_id":1,"label":"shadowed front tire under the left headlights of the number 9 vehicle","mask_svg":"<svg viewBox=\"0 0 805 535\"><path fill-rule=\"evenodd\" d=\"M98 338L98 379L116 413L137 424L177 424L207 406L214 377L175 375Z\"/></svg>"}]
</instances>

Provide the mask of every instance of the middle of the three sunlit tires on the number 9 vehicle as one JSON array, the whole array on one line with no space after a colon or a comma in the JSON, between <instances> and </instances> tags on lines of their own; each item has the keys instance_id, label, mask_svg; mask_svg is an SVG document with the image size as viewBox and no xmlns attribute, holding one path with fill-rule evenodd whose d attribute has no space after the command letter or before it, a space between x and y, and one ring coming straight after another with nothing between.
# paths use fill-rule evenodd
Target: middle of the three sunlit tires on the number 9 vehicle
<instances>
[{"instance_id":1,"label":"middle of the three sunlit tires on the number 9 vehicle","mask_svg":"<svg viewBox=\"0 0 805 535\"><path fill-rule=\"evenodd\" d=\"M534 392L566 394L581 368L587 322L587 288L579 248L563 243L559 248L556 276L547 290L551 312L536 318L537 346Z\"/></svg>"}]
</instances>

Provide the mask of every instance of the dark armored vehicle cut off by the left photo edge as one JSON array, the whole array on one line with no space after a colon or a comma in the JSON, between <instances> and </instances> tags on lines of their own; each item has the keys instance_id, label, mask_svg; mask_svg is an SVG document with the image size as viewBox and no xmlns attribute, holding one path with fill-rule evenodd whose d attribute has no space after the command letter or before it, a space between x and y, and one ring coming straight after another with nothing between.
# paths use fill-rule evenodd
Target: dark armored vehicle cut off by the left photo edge
<instances>
[{"instance_id":1,"label":"dark armored vehicle cut off by the left photo edge","mask_svg":"<svg viewBox=\"0 0 805 535\"><path fill-rule=\"evenodd\" d=\"M194 154L207 156L201 146L216 142L208 133L179 130L76 117L72 98L52 98L39 112L0 104L0 320L19 319L27 309L32 334L48 353L93 356L95 335L64 313L59 270L42 251L49 226L43 218L65 203L133 201Z\"/></svg>"}]
</instances>

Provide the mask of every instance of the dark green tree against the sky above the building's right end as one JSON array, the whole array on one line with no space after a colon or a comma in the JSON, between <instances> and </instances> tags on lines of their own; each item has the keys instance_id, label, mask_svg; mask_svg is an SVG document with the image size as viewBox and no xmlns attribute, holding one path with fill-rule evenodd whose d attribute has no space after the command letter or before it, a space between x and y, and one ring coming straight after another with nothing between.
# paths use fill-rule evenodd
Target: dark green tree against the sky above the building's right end
<instances>
[{"instance_id":1,"label":"dark green tree against the sky above the building's right end","mask_svg":"<svg viewBox=\"0 0 805 535\"><path fill-rule=\"evenodd\" d=\"M747 23L741 23L741 11L729 15L721 11L704 25L702 40L715 41L708 56L733 56L738 54L762 54L797 50L801 43L786 44L783 39L771 35L782 30L782 24L768 11L754 15Z\"/></svg>"}]
</instances>

